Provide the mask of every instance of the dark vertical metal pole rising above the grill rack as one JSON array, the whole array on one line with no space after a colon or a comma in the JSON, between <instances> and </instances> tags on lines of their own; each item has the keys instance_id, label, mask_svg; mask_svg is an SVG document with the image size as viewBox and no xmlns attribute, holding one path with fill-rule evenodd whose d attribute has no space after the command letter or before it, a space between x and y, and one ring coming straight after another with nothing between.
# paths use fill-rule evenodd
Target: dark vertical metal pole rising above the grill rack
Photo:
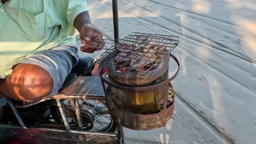
<instances>
[{"instance_id":1,"label":"dark vertical metal pole rising above the grill rack","mask_svg":"<svg viewBox=\"0 0 256 144\"><path fill-rule=\"evenodd\" d=\"M119 40L119 27L118 27L118 0L112 0L113 7L113 22L114 22L114 38L115 43Z\"/></svg>"}]
</instances>

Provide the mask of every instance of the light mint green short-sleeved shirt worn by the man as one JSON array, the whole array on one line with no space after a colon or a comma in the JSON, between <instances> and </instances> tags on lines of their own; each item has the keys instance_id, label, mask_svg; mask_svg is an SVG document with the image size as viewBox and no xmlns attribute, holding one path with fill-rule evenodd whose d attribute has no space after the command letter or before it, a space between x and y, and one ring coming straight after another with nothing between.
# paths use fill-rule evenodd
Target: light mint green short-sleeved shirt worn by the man
<instances>
[{"instance_id":1,"label":"light mint green short-sleeved shirt worn by the man","mask_svg":"<svg viewBox=\"0 0 256 144\"><path fill-rule=\"evenodd\" d=\"M85 0L0 1L0 79L36 52L75 44L73 22L84 11Z\"/></svg>"}]
</instances>

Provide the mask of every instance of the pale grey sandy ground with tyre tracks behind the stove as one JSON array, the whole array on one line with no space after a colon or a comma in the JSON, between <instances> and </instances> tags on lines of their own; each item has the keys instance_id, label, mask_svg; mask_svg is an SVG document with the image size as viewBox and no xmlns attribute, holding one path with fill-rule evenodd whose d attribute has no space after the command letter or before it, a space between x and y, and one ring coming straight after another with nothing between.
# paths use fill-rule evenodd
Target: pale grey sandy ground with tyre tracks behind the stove
<instances>
[{"instance_id":1,"label":"pale grey sandy ground with tyre tracks behind the stove","mask_svg":"<svg viewBox=\"0 0 256 144\"><path fill-rule=\"evenodd\" d=\"M256 1L118 2L120 38L144 32L177 35L181 41L173 51L181 62L173 81L175 115L159 129L125 129L126 137L160 143L256 143ZM112 2L88 4L92 23L113 39Z\"/></svg>"}]
</instances>

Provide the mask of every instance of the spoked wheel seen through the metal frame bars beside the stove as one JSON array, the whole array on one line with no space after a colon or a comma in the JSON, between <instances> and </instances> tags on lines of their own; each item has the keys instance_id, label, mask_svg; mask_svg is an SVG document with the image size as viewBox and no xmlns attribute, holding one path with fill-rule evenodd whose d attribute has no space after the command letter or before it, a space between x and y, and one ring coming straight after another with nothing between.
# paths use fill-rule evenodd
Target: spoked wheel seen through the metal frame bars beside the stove
<instances>
[{"instance_id":1,"label":"spoked wheel seen through the metal frame bars beside the stove","mask_svg":"<svg viewBox=\"0 0 256 144\"><path fill-rule=\"evenodd\" d=\"M80 117L82 119L83 129L87 131L101 131L107 133L114 133L117 130L117 123L110 117L106 102L104 100L78 100ZM79 129L77 119L75 117L75 109L70 103L69 99L63 100L63 107L65 108L71 128ZM59 107L51 107L51 115L56 123L63 123L60 115ZM75 124L75 125L74 125Z\"/></svg>"}]
</instances>

